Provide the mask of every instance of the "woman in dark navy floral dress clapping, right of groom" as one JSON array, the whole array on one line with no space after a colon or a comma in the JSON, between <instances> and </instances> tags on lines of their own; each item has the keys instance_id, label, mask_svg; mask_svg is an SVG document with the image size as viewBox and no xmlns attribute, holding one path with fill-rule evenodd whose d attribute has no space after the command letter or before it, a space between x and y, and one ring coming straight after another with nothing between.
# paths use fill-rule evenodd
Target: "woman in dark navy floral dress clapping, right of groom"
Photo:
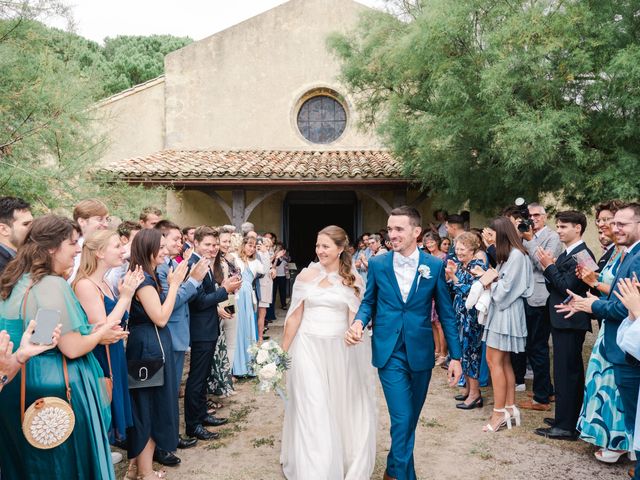
<instances>
[{"instance_id":1,"label":"woman in dark navy floral dress clapping, right of groom","mask_svg":"<svg viewBox=\"0 0 640 480\"><path fill-rule=\"evenodd\" d=\"M461 395L455 398L461 403L456 405L462 410L482 407L480 393L480 361L482 359L482 325L478 323L478 312L475 308L467 309L465 301L471 285L477 280L476 275L486 270L487 265L475 258L480 248L478 237L471 232L464 232L456 238L456 258L447 262L445 274L447 282L455 295L453 309L458 319L462 344L462 373L466 379L466 387ZM474 275L473 272L476 273Z\"/></svg>"}]
</instances>

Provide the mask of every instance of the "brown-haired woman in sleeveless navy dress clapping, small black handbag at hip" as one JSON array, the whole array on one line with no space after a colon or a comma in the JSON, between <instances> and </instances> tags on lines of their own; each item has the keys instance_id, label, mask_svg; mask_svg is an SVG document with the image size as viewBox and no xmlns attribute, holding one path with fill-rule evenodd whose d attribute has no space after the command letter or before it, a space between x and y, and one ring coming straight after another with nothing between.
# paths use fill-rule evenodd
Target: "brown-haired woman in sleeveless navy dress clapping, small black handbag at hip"
<instances>
[{"instance_id":1,"label":"brown-haired woman in sleeveless navy dress clapping, small black handbag at hip","mask_svg":"<svg viewBox=\"0 0 640 480\"><path fill-rule=\"evenodd\" d=\"M133 429L128 435L131 463L127 478L162 478L153 470L153 452L159 449L174 452L178 446L178 386L171 332L167 326L178 288L184 280L188 262L181 262L167 275L169 291L162 294L156 267L165 261L167 248L160 230L145 229L131 244L130 271L140 268L144 280L135 291L129 313L127 361L162 359L162 385L131 390Z\"/></svg>"}]
</instances>

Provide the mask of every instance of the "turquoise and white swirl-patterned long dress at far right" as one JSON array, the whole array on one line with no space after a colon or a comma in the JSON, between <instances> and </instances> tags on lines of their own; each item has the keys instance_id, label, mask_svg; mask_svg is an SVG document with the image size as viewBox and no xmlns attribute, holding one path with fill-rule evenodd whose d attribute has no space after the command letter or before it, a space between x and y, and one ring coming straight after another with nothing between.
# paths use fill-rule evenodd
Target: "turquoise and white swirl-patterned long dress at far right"
<instances>
[{"instance_id":1,"label":"turquoise and white swirl-patterned long dress at far right","mask_svg":"<svg viewBox=\"0 0 640 480\"><path fill-rule=\"evenodd\" d=\"M611 256L600 272L598 281L611 285L618 272L621 255L622 250L619 250ZM610 450L631 450L633 432L625 428L622 398L616 387L613 365L604 355L606 323L602 322L593 344L587 365L584 401L576 428L580 432L580 439L585 442Z\"/></svg>"}]
</instances>

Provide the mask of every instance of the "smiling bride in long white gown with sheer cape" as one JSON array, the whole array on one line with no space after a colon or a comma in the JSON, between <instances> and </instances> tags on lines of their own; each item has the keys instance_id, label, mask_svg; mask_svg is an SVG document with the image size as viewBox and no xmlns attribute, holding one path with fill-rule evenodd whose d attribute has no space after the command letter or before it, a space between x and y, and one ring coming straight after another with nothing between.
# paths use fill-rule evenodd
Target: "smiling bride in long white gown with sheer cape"
<instances>
[{"instance_id":1,"label":"smiling bride in long white gown with sheer cape","mask_svg":"<svg viewBox=\"0 0 640 480\"><path fill-rule=\"evenodd\" d=\"M280 463L288 480L371 478L376 453L374 370L369 337L354 347L344 332L364 294L347 234L318 233L312 263L296 278L282 347L287 374Z\"/></svg>"}]
</instances>

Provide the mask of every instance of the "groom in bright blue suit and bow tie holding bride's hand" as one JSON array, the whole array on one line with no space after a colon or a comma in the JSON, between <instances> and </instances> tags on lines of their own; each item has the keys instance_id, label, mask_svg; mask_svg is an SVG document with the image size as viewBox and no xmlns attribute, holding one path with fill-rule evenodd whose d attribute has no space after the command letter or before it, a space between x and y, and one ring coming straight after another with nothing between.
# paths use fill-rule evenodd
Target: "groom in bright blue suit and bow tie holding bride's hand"
<instances>
[{"instance_id":1,"label":"groom in bright blue suit and bow tie holding bride's hand","mask_svg":"<svg viewBox=\"0 0 640 480\"><path fill-rule=\"evenodd\" d=\"M378 369L391 417L391 449L384 480L415 480L415 429L434 366L432 300L447 338L449 384L462 374L460 341L442 260L418 249L420 213L413 207L391 211L387 222L393 252L369 261L367 290L351 328L348 344L361 341L372 321L373 366Z\"/></svg>"}]
</instances>

